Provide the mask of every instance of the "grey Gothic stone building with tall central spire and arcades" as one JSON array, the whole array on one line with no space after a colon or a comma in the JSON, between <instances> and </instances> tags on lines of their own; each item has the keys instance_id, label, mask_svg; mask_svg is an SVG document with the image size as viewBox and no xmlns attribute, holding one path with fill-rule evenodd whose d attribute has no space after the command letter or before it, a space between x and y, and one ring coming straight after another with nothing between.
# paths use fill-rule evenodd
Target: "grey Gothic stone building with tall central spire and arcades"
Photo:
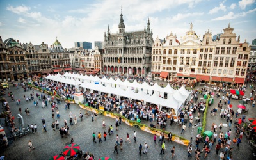
<instances>
[{"instance_id":1,"label":"grey Gothic stone building with tall central spire and arcades","mask_svg":"<svg viewBox=\"0 0 256 160\"><path fill-rule=\"evenodd\" d=\"M152 54L152 29L148 19L141 31L125 32L123 15L120 15L118 33L104 34L104 72L145 76L150 72Z\"/></svg>"}]
</instances>

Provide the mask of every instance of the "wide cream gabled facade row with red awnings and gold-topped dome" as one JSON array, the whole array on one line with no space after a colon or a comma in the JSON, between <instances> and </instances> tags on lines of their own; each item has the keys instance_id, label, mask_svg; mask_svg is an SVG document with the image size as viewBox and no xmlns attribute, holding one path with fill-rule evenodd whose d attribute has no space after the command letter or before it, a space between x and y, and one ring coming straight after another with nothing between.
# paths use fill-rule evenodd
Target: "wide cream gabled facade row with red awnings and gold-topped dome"
<instances>
[{"instance_id":1,"label":"wide cream gabled facade row with red awnings and gold-topped dome","mask_svg":"<svg viewBox=\"0 0 256 160\"><path fill-rule=\"evenodd\" d=\"M230 24L223 31L216 40L212 40L211 31L205 31L201 41L191 24L180 40L172 33L165 42L157 37L152 54L153 77L243 84L250 46L246 41L240 42Z\"/></svg>"}]
</instances>

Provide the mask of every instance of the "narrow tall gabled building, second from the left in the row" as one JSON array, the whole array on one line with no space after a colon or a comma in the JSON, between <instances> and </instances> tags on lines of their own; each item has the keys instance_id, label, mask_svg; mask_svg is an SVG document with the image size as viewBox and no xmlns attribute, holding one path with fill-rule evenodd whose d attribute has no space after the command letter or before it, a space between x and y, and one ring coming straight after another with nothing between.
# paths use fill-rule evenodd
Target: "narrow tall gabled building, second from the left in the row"
<instances>
[{"instance_id":1,"label":"narrow tall gabled building, second from the left in the row","mask_svg":"<svg viewBox=\"0 0 256 160\"><path fill-rule=\"evenodd\" d=\"M41 76L40 59L38 51L35 49L34 45L29 42L29 44L24 45L26 61L28 65L28 77Z\"/></svg>"}]
</instances>

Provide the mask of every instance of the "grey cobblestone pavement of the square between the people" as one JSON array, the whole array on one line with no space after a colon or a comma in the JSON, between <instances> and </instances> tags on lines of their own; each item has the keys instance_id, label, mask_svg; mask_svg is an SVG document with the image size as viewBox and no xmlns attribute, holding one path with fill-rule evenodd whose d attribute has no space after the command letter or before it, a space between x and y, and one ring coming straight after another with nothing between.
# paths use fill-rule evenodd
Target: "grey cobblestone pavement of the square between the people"
<instances>
[{"instance_id":1,"label":"grey cobblestone pavement of the square between the people","mask_svg":"<svg viewBox=\"0 0 256 160\"><path fill-rule=\"evenodd\" d=\"M29 92L24 92L21 88L19 90L16 90L11 86L11 91L15 95L15 99L22 98L25 94L26 96L29 95ZM35 93L39 91L35 90ZM7 92L8 93L8 92ZM246 92L249 94L250 92ZM199 97L200 98L200 97ZM17 114L19 106L15 102L12 102L10 100L10 97L6 97L8 102L11 106L12 114L15 115L15 124L19 124L17 120ZM235 101L232 100L232 103L235 104ZM217 101L214 100L214 104L217 104ZM234 105L236 106L236 105ZM107 141L104 141L102 143L93 143L92 141L92 133L95 132L101 132L103 134L104 131L107 132L107 129L102 128L102 120L106 120L106 125L115 125L115 120L113 118L108 118L106 116L98 115L97 120L92 122L90 116L84 116L84 120L81 122L78 121L78 124L70 126L68 123L68 126L70 127L70 137L68 138L60 138L60 134L58 131L52 131L51 124L52 124L52 117L51 117L51 107L45 107L42 108L39 104L39 106L33 106L33 102L26 102L26 100L22 99L22 102L20 104L20 107L22 108L21 115L24 116L24 123L25 124L36 124L38 125L38 132L35 134L29 134L27 136L23 136L22 138L18 138L16 141L8 147L7 150L4 152L1 152L1 154L7 154L6 159L49 159L52 156L56 154L60 154L63 150L63 147L70 143L70 139L74 138L74 143L77 143L80 145L81 149L84 151L89 151L95 154L96 159L100 156L109 156L112 159L171 159L170 157L170 150L173 145L176 147L176 157L173 159L188 159L186 146L179 145L178 143L167 143L167 154L160 155L161 147L160 145L153 145L153 135L148 134L147 132L141 131L140 129L136 129L134 127L129 127L126 124L122 124L119 127L119 131L114 131L114 134L111 136L107 136ZM26 115L24 113L24 109L29 108L31 111L30 115ZM249 107L250 111L248 113L247 117L255 116L255 108L252 109L252 106ZM75 114L76 116L79 115L80 108L77 104L71 104L70 109L65 110L65 107L63 104L59 105L59 111L60 111L60 127L64 125L64 119L68 120L68 114L70 111ZM82 113L84 111L82 110ZM218 114L217 114L218 115ZM44 116L45 122L47 125L47 133L42 132L42 121L41 118ZM55 115L56 116L56 115ZM210 128L212 122L216 122L217 124L224 120L221 120L219 116L211 117L210 112L208 112L207 116L209 117L209 120L207 120L207 129ZM55 117L56 118L56 117ZM169 123L168 123L169 124ZM168 128L169 127L169 128ZM170 129L170 125L168 125L167 130ZM115 128L115 127L114 127ZM188 128L188 126L187 126ZM189 131L190 130L190 131ZM234 126L232 126L232 130L234 131ZM137 132L137 142L134 143L132 140L133 131ZM120 151L118 148L118 155L113 154L114 145L116 141L116 134L119 135L119 138L125 138L127 132L130 134L130 140L132 143L124 143L124 150ZM172 127L172 132L179 134L180 128L179 127ZM195 135L195 134L194 134ZM184 134L185 138L190 138L191 136L191 129L187 129L187 131ZM234 132L232 134L232 138L234 136ZM28 140L31 140L33 142L33 145L35 147L35 150L32 150L31 152L28 152ZM158 140L158 138L157 138ZM147 142L150 146L148 148L148 154L143 154L140 156L138 154L138 146L141 143ZM215 147L215 145L214 145ZM143 147L144 148L144 147ZM202 148L202 144L200 144L200 148ZM18 152L19 151L19 152ZM239 149L239 152L237 152L238 149L235 148L233 151L233 155L235 159L253 159L253 149L248 145L246 142L246 138L243 138L243 143L241 143L241 147ZM194 152L192 156L195 156ZM201 156L201 159L203 159L203 155ZM215 152L211 152L209 156L206 159L218 159L218 156L215 154Z\"/></svg>"}]
</instances>

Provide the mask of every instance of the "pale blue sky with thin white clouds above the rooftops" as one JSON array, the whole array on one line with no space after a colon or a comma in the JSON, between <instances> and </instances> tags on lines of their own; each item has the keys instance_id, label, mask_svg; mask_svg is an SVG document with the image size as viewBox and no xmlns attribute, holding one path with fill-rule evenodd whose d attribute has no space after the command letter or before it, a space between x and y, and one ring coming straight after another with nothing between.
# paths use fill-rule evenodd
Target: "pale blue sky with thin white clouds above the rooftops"
<instances>
[{"instance_id":1,"label":"pale blue sky with thin white clouds above the rooftops","mask_svg":"<svg viewBox=\"0 0 256 160\"><path fill-rule=\"evenodd\" d=\"M118 31L120 12L125 31L144 29L147 19L154 40L177 35L178 40L189 30L202 39L205 31L216 35L227 28L252 44L256 38L256 0L8 0L0 1L0 36L34 45L51 45L56 36L63 48L74 42L103 41L108 25L111 33Z\"/></svg>"}]
</instances>

